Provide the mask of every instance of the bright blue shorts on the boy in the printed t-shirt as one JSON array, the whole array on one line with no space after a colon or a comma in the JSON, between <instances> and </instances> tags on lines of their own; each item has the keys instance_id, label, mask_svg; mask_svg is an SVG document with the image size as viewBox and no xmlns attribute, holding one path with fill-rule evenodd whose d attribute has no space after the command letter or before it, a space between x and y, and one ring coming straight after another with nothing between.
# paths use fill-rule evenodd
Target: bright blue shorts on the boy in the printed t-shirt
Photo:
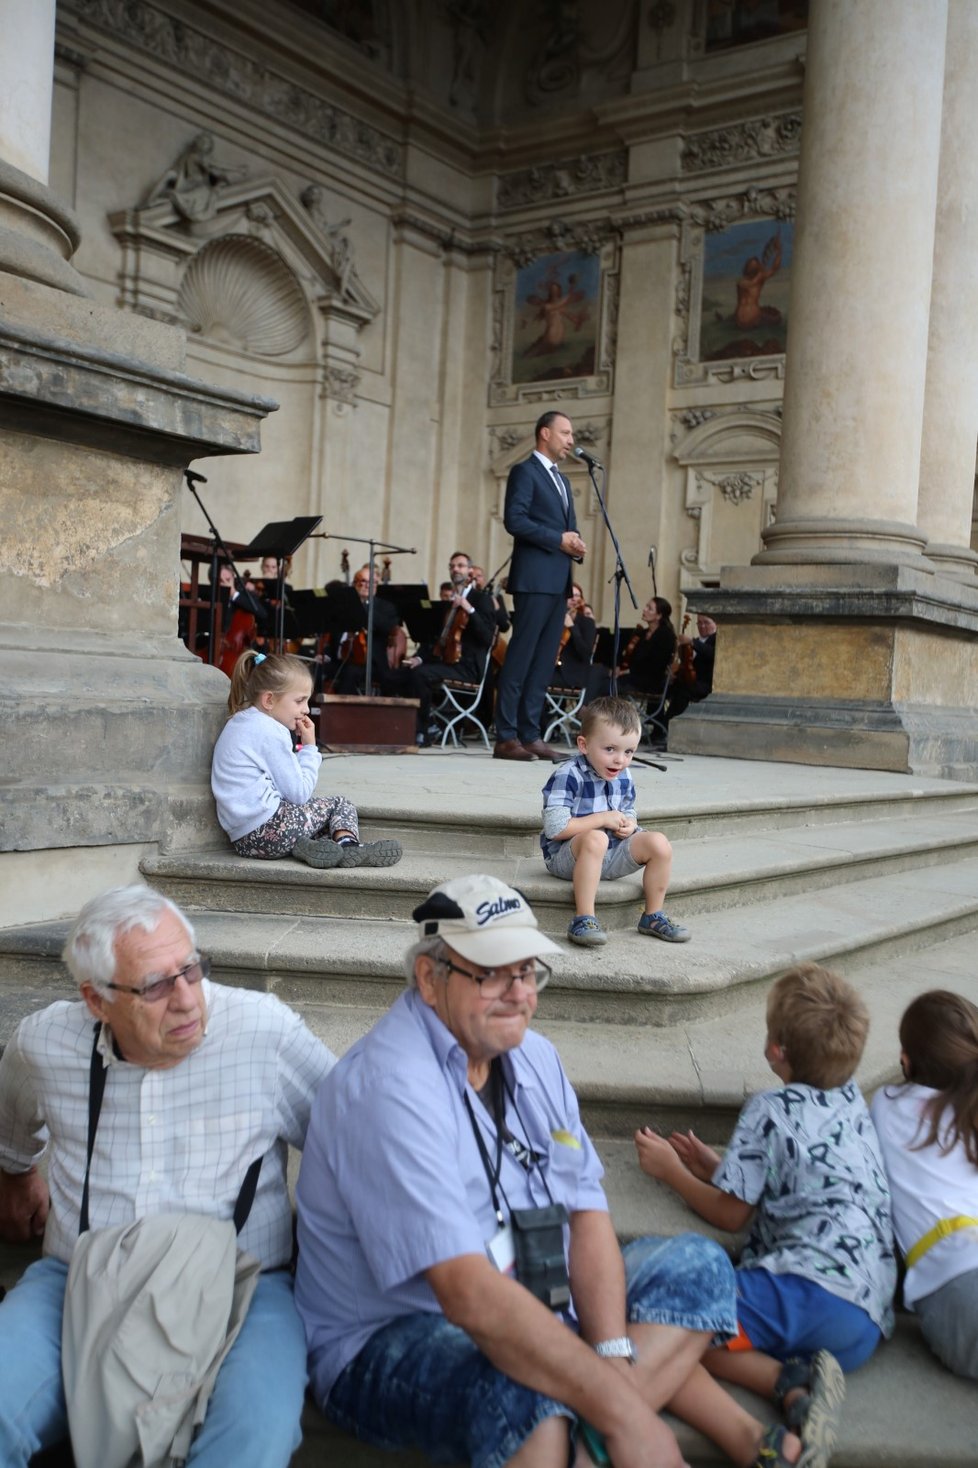
<instances>
[{"instance_id":1,"label":"bright blue shorts on the boy in the printed t-shirt","mask_svg":"<svg viewBox=\"0 0 978 1468\"><path fill-rule=\"evenodd\" d=\"M734 1351L764 1351L778 1361L831 1351L843 1371L868 1361L883 1339L880 1327L852 1301L800 1274L764 1268L737 1270L737 1320Z\"/></svg>"}]
</instances>

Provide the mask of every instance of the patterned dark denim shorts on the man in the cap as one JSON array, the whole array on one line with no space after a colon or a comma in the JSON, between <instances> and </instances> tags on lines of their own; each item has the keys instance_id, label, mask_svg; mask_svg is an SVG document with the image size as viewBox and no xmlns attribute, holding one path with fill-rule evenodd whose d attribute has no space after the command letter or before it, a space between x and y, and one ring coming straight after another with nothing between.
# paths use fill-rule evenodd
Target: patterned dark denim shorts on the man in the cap
<instances>
[{"instance_id":1,"label":"patterned dark denim shorts on the man in the cap","mask_svg":"<svg viewBox=\"0 0 978 1468\"><path fill-rule=\"evenodd\" d=\"M736 1333L734 1270L711 1239L637 1239L624 1251L629 1320ZM548 1417L574 1412L496 1371L470 1336L439 1314L402 1315L377 1330L336 1378L325 1406L338 1427L432 1462L502 1468Z\"/></svg>"}]
</instances>

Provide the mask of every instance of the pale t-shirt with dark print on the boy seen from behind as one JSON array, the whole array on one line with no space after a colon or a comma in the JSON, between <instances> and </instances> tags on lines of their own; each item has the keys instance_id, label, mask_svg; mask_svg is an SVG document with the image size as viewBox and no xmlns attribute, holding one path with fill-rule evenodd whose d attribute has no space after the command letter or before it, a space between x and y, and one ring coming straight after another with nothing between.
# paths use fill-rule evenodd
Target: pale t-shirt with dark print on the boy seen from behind
<instances>
[{"instance_id":1,"label":"pale t-shirt with dark print on the boy seen from behind","mask_svg":"<svg viewBox=\"0 0 978 1468\"><path fill-rule=\"evenodd\" d=\"M712 1182L756 1208L742 1268L800 1274L893 1331L896 1260L880 1141L855 1080L745 1105Z\"/></svg>"}]
</instances>

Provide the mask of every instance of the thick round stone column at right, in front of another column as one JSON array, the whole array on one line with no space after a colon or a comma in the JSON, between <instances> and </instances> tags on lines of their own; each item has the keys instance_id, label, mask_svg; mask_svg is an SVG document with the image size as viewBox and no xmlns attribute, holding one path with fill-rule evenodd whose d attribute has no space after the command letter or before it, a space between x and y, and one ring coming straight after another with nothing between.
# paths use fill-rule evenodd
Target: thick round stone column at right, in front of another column
<instances>
[{"instance_id":1,"label":"thick round stone column at right, in front of another column","mask_svg":"<svg viewBox=\"0 0 978 1468\"><path fill-rule=\"evenodd\" d=\"M765 562L915 561L947 0L812 0Z\"/></svg>"}]
</instances>

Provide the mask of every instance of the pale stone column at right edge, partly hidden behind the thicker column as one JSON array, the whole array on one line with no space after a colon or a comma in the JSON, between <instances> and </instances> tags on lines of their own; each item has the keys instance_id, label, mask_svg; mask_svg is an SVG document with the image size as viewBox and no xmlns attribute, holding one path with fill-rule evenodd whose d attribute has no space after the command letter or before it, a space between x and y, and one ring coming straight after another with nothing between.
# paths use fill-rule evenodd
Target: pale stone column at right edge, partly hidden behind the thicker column
<instances>
[{"instance_id":1,"label":"pale stone column at right edge, partly hidden behind the thicker column","mask_svg":"<svg viewBox=\"0 0 978 1468\"><path fill-rule=\"evenodd\" d=\"M927 558L972 581L971 517L978 443L978 6L949 0L941 167L918 524Z\"/></svg>"}]
</instances>

